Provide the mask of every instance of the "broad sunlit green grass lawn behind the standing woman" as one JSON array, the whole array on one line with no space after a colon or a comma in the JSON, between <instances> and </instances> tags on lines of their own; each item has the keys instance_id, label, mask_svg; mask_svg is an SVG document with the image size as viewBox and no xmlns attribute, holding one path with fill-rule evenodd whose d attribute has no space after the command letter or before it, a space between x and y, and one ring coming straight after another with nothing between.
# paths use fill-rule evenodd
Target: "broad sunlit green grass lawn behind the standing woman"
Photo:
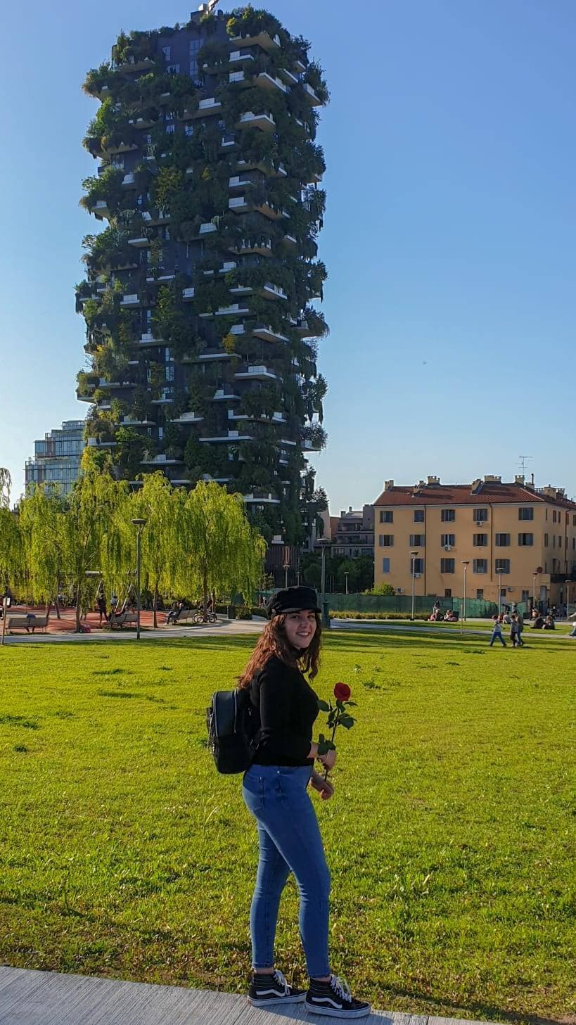
<instances>
[{"instance_id":1,"label":"broad sunlit green grass lawn behind the standing woman","mask_svg":"<svg viewBox=\"0 0 576 1025\"><path fill-rule=\"evenodd\" d=\"M256 830L240 777L219 777L206 750L205 708L253 641L2 650L0 962L244 991ZM328 637L316 688L327 698L343 680L359 705L336 793L314 795L333 969L376 1007L574 1012L575 678L558 634L521 651ZM277 954L302 982L292 880Z\"/></svg>"}]
</instances>

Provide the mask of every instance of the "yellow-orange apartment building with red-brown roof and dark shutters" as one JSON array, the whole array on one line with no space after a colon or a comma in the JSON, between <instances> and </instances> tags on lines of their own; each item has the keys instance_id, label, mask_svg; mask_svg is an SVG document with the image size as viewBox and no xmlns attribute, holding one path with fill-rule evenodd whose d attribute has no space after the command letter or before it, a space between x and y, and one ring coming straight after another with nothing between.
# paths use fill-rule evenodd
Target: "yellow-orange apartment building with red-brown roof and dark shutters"
<instances>
[{"instance_id":1,"label":"yellow-orange apartment building with red-brown roof and dark shutters","mask_svg":"<svg viewBox=\"0 0 576 1025\"><path fill-rule=\"evenodd\" d=\"M374 583L398 593L487 602L576 601L576 502L563 488L487 476L384 483L374 502ZM571 583L567 587L566 581ZM572 583L573 581L573 583ZM569 590L569 593L567 593Z\"/></svg>"}]
</instances>

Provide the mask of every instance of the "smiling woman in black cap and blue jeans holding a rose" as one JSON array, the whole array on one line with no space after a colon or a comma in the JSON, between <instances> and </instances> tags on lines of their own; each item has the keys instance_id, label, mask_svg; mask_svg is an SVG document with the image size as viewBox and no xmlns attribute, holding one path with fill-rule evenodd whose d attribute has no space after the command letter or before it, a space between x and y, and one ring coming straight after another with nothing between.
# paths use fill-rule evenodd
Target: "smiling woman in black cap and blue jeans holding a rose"
<instances>
[{"instance_id":1,"label":"smiling woman in black cap and blue jeans holding a rose","mask_svg":"<svg viewBox=\"0 0 576 1025\"><path fill-rule=\"evenodd\" d=\"M331 783L314 770L318 758L332 769L335 751L319 754L312 740L318 696L303 676L318 673L320 609L312 587L287 587L266 604L266 623L239 687L250 692L257 724L257 749L244 774L243 796L256 819L259 862L250 910L252 981L250 1003L271 1006L305 1000L308 1011L333 1018L362 1018L370 1004L356 1000L330 972L326 864L308 783L324 801ZM280 897L290 872L300 893L299 927L306 957L307 993L288 985L274 965Z\"/></svg>"}]
</instances>

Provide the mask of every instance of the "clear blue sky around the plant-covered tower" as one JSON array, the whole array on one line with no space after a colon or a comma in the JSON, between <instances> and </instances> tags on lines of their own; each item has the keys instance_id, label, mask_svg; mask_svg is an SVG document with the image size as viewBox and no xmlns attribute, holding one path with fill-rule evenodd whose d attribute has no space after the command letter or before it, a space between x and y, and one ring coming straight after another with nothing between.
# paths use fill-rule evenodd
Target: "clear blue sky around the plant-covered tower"
<instances>
[{"instance_id":1,"label":"clear blue sky around the plant-covered tower","mask_svg":"<svg viewBox=\"0 0 576 1025\"><path fill-rule=\"evenodd\" d=\"M0 465L14 495L34 439L86 412L73 289L95 224L78 199L95 168L81 139L96 104L80 84L120 29L191 9L32 0L24 15L5 11ZM573 0L269 9L313 41L332 92L320 131L329 446L317 460L332 511L373 501L388 478L509 479L521 453L537 485L574 495Z\"/></svg>"}]
</instances>

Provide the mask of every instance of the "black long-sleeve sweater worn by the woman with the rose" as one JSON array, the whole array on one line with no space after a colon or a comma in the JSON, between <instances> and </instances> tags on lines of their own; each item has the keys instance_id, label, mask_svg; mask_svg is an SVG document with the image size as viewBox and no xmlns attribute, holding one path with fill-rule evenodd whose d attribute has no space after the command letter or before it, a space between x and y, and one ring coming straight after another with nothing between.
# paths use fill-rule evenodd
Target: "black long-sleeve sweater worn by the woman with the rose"
<instances>
[{"instance_id":1,"label":"black long-sleeve sweater worn by the woman with the rose","mask_svg":"<svg viewBox=\"0 0 576 1025\"><path fill-rule=\"evenodd\" d=\"M299 669L272 656L250 684L250 701L259 725L255 765L314 765L307 753L318 695Z\"/></svg>"}]
</instances>

